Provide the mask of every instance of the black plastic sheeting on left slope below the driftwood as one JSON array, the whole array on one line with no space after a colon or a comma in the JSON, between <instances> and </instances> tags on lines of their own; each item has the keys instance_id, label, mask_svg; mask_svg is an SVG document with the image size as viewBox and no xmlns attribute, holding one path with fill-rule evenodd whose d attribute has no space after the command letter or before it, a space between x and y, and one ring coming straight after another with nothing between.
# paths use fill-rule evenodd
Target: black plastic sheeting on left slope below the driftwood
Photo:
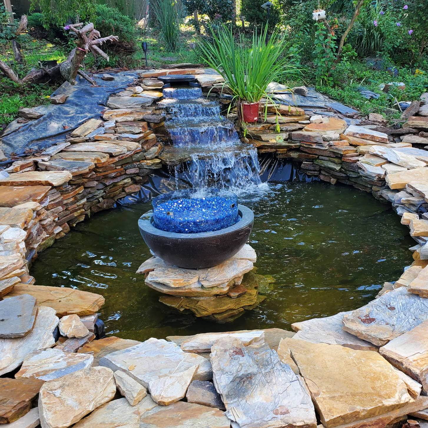
<instances>
[{"instance_id":1,"label":"black plastic sheeting on left slope below the driftwood","mask_svg":"<svg viewBox=\"0 0 428 428\"><path fill-rule=\"evenodd\" d=\"M122 71L114 74L115 79L105 81L101 74L92 78L97 87L83 78L72 86L61 85L52 95L69 94L64 104L37 107L45 113L40 119L26 123L15 131L4 132L0 149L8 157L11 153L22 155L26 149L45 149L58 141L65 140L65 134L73 131L88 119L100 118L111 94L125 89L138 77L138 71ZM10 125L9 125L10 126Z\"/></svg>"}]
</instances>

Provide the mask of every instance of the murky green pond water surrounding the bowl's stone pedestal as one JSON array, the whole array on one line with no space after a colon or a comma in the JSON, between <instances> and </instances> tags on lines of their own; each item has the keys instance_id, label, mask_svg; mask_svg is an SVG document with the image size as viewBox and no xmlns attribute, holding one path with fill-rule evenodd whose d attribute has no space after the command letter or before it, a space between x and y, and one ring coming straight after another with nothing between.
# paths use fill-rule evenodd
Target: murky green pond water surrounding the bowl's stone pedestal
<instances>
[{"instance_id":1,"label":"murky green pond water surrounding the bowl's stone pedestal","mask_svg":"<svg viewBox=\"0 0 428 428\"><path fill-rule=\"evenodd\" d=\"M150 204L98 213L39 255L31 274L39 285L78 288L104 295L101 319L110 334L128 339L280 327L356 309L383 282L409 265L408 229L389 205L348 186L319 182L263 184L260 196L240 196L255 212L250 244L257 273L273 288L261 305L230 324L182 315L158 302L136 275L149 256L137 227Z\"/></svg>"}]
</instances>

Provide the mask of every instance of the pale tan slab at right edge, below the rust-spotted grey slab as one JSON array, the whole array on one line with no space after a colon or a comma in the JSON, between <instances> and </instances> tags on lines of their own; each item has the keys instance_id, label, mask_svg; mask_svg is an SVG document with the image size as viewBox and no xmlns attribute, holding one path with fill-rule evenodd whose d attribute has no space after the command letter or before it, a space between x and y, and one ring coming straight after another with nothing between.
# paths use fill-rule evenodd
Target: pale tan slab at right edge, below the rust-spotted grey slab
<instances>
[{"instance_id":1,"label":"pale tan slab at right edge, below the rust-spotted grey slab","mask_svg":"<svg viewBox=\"0 0 428 428\"><path fill-rule=\"evenodd\" d=\"M393 366L422 384L428 393L428 321L379 348Z\"/></svg>"}]
</instances>

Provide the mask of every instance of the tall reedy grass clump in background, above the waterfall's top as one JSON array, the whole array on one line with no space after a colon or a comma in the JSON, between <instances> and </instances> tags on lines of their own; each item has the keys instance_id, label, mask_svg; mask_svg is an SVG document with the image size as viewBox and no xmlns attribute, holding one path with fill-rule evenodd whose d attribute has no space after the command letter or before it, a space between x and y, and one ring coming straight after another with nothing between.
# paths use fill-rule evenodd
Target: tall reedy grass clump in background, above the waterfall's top
<instances>
[{"instance_id":1,"label":"tall reedy grass clump in background, above the waterfall's top","mask_svg":"<svg viewBox=\"0 0 428 428\"><path fill-rule=\"evenodd\" d=\"M184 16L181 0L155 0L150 2L155 22L169 51L175 51L180 39L180 24Z\"/></svg>"}]
</instances>

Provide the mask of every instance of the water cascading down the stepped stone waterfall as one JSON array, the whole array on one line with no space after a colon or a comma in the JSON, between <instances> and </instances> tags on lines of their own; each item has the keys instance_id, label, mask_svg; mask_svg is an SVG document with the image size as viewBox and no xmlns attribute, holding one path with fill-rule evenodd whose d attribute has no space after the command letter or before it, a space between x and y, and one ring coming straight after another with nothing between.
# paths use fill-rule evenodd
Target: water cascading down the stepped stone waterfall
<instances>
[{"instance_id":1,"label":"water cascading down the stepped stone waterfall","mask_svg":"<svg viewBox=\"0 0 428 428\"><path fill-rule=\"evenodd\" d=\"M261 184L257 151L243 145L233 123L221 116L220 104L202 97L200 88L163 89L161 104L172 114L165 127L173 146L188 152L192 159L178 177L195 188L229 187L247 190Z\"/></svg>"}]
</instances>

